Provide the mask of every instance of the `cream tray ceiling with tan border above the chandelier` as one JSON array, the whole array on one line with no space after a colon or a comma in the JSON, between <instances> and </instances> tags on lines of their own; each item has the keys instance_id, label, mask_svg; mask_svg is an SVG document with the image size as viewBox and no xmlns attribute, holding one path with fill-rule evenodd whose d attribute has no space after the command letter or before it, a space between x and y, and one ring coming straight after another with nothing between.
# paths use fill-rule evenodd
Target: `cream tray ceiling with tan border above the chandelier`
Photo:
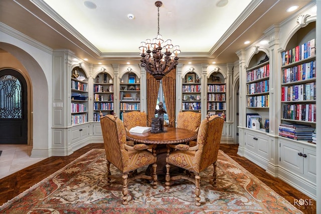
<instances>
[{"instance_id":1,"label":"cream tray ceiling with tan border above the chandelier","mask_svg":"<svg viewBox=\"0 0 321 214\"><path fill-rule=\"evenodd\" d=\"M180 64L233 63L235 52L311 1L163 0L159 34L179 45ZM157 35L151 0L1 0L0 21L51 49L70 49L90 64L139 64L140 42ZM224 3L227 3L224 6ZM223 7L219 7L223 5ZM89 7L86 7L89 6ZM96 6L92 9L91 6ZM134 19L127 18L128 14Z\"/></svg>"}]
</instances>

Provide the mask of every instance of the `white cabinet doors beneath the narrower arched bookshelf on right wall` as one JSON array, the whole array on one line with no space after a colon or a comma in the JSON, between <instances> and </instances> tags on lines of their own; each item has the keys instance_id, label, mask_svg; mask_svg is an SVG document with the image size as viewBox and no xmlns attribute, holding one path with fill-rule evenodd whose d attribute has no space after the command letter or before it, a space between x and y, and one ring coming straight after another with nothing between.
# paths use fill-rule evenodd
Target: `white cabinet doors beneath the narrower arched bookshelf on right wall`
<instances>
[{"instance_id":1,"label":"white cabinet doors beneath the narrower arched bookshelf on right wall","mask_svg":"<svg viewBox=\"0 0 321 214\"><path fill-rule=\"evenodd\" d=\"M270 142L265 132L245 129L245 157L266 169L269 162Z\"/></svg>"}]
</instances>

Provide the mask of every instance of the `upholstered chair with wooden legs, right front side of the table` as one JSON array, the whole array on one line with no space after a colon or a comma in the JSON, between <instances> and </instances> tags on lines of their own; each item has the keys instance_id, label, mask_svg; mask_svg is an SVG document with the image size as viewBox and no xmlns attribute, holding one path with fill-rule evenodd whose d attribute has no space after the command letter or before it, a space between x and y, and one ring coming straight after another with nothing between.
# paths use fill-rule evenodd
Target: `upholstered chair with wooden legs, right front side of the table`
<instances>
[{"instance_id":1,"label":"upholstered chair with wooden legs, right front side of the table","mask_svg":"<svg viewBox=\"0 0 321 214\"><path fill-rule=\"evenodd\" d=\"M210 179L213 185L216 185L216 161L221 141L224 119L217 115L209 116L201 122L196 146L186 144L167 145L166 157L166 188L170 189L171 181L186 179L193 182L195 188L196 205L201 205L200 198L200 180ZM208 166L213 164L214 171L212 176L202 177L200 173ZM170 176L171 165L178 166L191 172L188 174L179 174Z\"/></svg>"}]
</instances>

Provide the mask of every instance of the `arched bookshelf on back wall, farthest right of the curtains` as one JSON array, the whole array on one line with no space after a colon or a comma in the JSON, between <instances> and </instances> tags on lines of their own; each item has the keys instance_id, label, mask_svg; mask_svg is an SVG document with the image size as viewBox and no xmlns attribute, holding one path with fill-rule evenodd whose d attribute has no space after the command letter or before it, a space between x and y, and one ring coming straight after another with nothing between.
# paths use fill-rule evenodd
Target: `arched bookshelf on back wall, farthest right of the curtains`
<instances>
[{"instance_id":1,"label":"arched bookshelf on back wall, farthest right of the curtains","mask_svg":"<svg viewBox=\"0 0 321 214\"><path fill-rule=\"evenodd\" d=\"M207 82L207 111L212 114L226 112L226 83L220 73L210 76Z\"/></svg>"}]
</instances>

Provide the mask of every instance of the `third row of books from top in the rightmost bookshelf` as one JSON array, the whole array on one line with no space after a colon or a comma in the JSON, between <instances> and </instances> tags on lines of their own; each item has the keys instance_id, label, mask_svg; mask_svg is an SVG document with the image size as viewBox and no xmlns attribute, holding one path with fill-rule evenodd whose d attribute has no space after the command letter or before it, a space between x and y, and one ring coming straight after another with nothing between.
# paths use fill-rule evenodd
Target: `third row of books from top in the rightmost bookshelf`
<instances>
[{"instance_id":1,"label":"third row of books from top in the rightmost bookshelf","mask_svg":"<svg viewBox=\"0 0 321 214\"><path fill-rule=\"evenodd\" d=\"M282 86L281 101L316 100L316 83Z\"/></svg>"}]
</instances>

